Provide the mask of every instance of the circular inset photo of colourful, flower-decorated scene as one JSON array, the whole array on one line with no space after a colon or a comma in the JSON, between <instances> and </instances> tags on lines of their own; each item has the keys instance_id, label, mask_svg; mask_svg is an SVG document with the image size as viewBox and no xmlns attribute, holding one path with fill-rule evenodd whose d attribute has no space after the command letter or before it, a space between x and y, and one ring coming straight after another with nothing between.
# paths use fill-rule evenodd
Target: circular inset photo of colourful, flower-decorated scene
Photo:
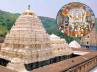
<instances>
[{"instance_id":1,"label":"circular inset photo of colourful, flower-decorated scene","mask_svg":"<svg viewBox=\"0 0 97 72\"><path fill-rule=\"evenodd\" d=\"M94 28L95 15L89 6L79 2L72 2L64 5L59 10L57 24L65 35L82 37Z\"/></svg>"}]
</instances>

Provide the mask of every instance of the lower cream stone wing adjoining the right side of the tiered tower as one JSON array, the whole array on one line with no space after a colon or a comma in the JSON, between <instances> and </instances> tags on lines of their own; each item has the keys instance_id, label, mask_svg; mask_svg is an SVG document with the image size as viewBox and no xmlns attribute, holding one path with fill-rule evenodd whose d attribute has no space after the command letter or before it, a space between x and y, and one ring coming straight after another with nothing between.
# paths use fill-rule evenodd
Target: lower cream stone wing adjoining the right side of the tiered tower
<instances>
[{"instance_id":1,"label":"lower cream stone wing adjoining the right side of the tiered tower","mask_svg":"<svg viewBox=\"0 0 97 72\"><path fill-rule=\"evenodd\" d=\"M66 43L66 40L63 38L60 38L56 36L55 34L50 35L50 43L53 48L59 48L56 55L70 55L72 52L72 49L69 47L68 43ZM65 51L64 51L65 48ZM60 51L60 52L59 52Z\"/></svg>"}]
</instances>

